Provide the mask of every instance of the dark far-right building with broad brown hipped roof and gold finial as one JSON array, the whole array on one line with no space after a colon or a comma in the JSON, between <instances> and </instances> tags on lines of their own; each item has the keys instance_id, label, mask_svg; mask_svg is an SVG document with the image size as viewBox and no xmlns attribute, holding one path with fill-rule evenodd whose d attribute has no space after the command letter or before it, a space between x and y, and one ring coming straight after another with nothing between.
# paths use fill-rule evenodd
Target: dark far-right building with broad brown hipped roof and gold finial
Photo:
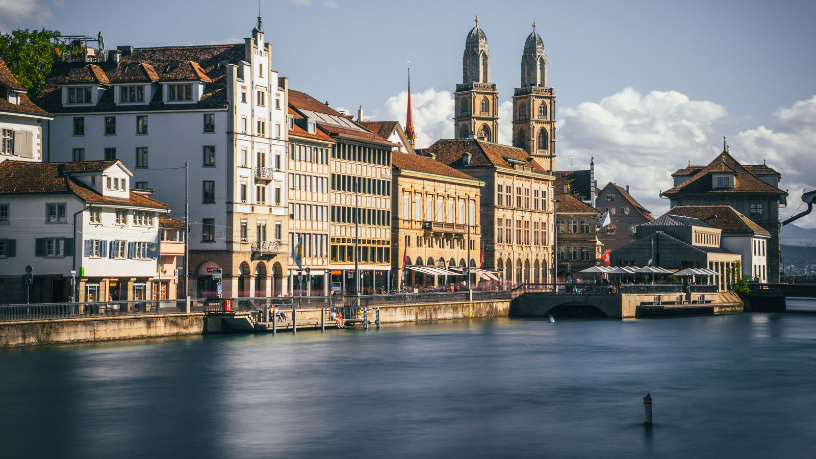
<instances>
[{"instance_id":1,"label":"dark far-right building with broad brown hipped roof and gold finial","mask_svg":"<svg viewBox=\"0 0 816 459\"><path fill-rule=\"evenodd\" d=\"M768 231L767 278L779 282L779 205L787 203L787 192L778 188L778 172L765 164L743 166L723 145L711 163L684 167L672 177L674 186L661 193L672 207L730 206Z\"/></svg>"}]
</instances>

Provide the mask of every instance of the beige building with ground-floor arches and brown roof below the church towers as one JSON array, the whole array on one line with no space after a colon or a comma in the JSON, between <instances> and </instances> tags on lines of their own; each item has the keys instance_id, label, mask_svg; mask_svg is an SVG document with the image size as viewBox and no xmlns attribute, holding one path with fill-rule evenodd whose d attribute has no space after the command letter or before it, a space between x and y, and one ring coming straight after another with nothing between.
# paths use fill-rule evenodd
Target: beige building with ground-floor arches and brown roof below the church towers
<instances>
[{"instance_id":1,"label":"beige building with ground-floor arches and brown roof below the church towers","mask_svg":"<svg viewBox=\"0 0 816 459\"><path fill-rule=\"evenodd\" d=\"M485 270L510 284L548 283L552 180L525 150L483 140L437 140L421 153L485 183L480 196Z\"/></svg>"}]
</instances>

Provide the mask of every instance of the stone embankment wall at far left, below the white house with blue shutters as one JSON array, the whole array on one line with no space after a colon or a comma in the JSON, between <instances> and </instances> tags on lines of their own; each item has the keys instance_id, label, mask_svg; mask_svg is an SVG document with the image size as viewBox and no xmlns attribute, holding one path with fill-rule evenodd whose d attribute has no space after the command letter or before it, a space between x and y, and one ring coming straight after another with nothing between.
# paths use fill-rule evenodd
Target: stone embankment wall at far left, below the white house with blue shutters
<instances>
[{"instance_id":1,"label":"stone embankment wall at far left, below the white house with blue shutters","mask_svg":"<svg viewBox=\"0 0 816 459\"><path fill-rule=\"evenodd\" d=\"M201 335L204 314L150 314L0 324L0 348Z\"/></svg>"}]
</instances>

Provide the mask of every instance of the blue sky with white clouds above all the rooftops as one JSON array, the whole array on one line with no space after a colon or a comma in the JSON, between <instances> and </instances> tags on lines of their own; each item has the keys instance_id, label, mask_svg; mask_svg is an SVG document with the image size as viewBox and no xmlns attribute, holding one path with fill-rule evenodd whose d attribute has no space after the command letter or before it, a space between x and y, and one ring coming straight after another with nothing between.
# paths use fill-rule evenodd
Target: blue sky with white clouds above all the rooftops
<instances>
[{"instance_id":1,"label":"blue sky with white clouds above all the rooftops","mask_svg":"<svg viewBox=\"0 0 816 459\"><path fill-rule=\"evenodd\" d=\"M464 8L463 5L467 5ZM227 5L227 7L225 7ZM499 142L510 144L511 97L535 20L557 96L557 169L599 186L631 185L654 216L671 173L707 164L728 136L740 163L763 161L790 193L781 219L816 187L816 2L267 0L273 65L290 87L369 120L406 118L406 69L417 146L453 136L462 53L479 16L499 88ZM257 0L0 0L0 32L60 30L107 47L243 42ZM816 214L816 212L814 212ZM816 215L796 225L816 228ZM784 234L784 230L783 230Z\"/></svg>"}]
</instances>

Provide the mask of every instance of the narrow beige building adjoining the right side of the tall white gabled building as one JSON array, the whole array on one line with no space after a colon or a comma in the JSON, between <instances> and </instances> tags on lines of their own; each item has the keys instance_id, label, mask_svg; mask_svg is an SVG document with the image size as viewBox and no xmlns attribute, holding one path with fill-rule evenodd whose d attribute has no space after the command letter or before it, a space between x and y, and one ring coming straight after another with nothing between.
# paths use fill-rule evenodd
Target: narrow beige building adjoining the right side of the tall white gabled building
<instances>
[{"instance_id":1,"label":"narrow beige building adjoining the right side of the tall white gabled building","mask_svg":"<svg viewBox=\"0 0 816 459\"><path fill-rule=\"evenodd\" d=\"M289 266L289 288L295 295L329 293L329 161L335 145L313 119L289 109L289 247L302 243L300 267ZM308 273L306 271L308 270Z\"/></svg>"}]
</instances>

